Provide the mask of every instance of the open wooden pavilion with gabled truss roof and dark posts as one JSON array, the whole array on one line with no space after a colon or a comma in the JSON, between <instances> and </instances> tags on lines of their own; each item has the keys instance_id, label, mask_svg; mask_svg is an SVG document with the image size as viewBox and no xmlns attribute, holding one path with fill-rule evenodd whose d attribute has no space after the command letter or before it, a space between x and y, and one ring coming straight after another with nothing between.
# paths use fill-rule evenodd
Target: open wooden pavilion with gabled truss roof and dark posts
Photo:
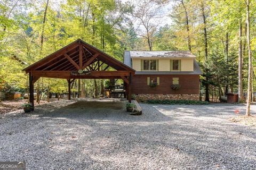
<instances>
[{"instance_id":1,"label":"open wooden pavilion with gabled truss roof and dark posts","mask_svg":"<svg viewBox=\"0 0 256 170\"><path fill-rule=\"evenodd\" d=\"M23 71L29 73L29 101L33 106L34 83L41 77L67 79L69 100L70 84L75 79L123 79L126 96L131 103L131 83L135 70L81 39Z\"/></svg>"}]
</instances>

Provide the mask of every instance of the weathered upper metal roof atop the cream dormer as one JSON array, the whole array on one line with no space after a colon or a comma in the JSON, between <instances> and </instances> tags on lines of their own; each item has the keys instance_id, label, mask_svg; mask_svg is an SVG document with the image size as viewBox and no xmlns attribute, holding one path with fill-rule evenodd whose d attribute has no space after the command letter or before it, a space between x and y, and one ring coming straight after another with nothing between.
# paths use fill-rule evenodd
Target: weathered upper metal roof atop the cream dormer
<instances>
[{"instance_id":1,"label":"weathered upper metal roof atop the cream dormer","mask_svg":"<svg viewBox=\"0 0 256 170\"><path fill-rule=\"evenodd\" d=\"M196 57L189 51L130 51L131 57Z\"/></svg>"}]
</instances>

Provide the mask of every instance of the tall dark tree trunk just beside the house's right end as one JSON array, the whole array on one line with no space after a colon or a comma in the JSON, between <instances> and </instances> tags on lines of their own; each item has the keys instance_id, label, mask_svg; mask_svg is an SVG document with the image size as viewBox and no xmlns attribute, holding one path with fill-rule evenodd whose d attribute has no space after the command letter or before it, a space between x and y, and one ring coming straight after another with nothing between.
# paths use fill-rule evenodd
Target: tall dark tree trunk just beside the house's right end
<instances>
[{"instance_id":1,"label":"tall dark tree trunk just beside the house's right end","mask_svg":"<svg viewBox=\"0 0 256 170\"><path fill-rule=\"evenodd\" d=\"M208 44L207 44L207 30L206 30L206 18L204 13L204 4L202 2L202 16L203 16L203 22L204 22L204 52L205 52L205 61L207 61L208 58ZM205 101L209 100L209 79L208 79L208 69L206 68L206 84L205 84Z\"/></svg>"}]
</instances>

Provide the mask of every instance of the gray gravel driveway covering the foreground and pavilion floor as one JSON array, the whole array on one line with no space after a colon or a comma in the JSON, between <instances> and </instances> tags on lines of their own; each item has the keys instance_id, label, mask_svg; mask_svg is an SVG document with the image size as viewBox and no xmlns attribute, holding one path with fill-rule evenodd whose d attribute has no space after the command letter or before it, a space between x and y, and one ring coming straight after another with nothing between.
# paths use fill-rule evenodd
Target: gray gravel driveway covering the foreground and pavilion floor
<instances>
[{"instance_id":1,"label":"gray gravel driveway covering the foreground and pavilion floor","mask_svg":"<svg viewBox=\"0 0 256 170\"><path fill-rule=\"evenodd\" d=\"M256 128L228 121L244 105L141 104L131 116L124 102L102 101L0 115L0 160L27 169L256 169Z\"/></svg>"}]
</instances>

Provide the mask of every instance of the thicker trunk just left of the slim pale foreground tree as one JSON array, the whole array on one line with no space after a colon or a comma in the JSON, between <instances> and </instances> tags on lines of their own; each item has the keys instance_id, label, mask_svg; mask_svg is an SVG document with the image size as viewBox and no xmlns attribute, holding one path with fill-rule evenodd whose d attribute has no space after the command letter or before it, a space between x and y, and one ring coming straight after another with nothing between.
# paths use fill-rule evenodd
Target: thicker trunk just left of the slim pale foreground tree
<instances>
[{"instance_id":1,"label":"thicker trunk just left of the slim pale foreground tree","mask_svg":"<svg viewBox=\"0 0 256 170\"><path fill-rule=\"evenodd\" d=\"M242 54L242 23L239 21L239 49L238 49L238 102L243 103L243 54Z\"/></svg>"}]
</instances>

